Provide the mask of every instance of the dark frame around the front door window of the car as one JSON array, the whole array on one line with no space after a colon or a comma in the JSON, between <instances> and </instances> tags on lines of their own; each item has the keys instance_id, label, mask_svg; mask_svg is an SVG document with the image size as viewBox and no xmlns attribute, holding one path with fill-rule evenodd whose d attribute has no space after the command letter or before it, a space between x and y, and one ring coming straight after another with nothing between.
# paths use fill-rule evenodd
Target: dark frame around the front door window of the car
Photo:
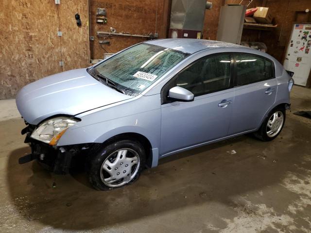
<instances>
[{"instance_id":1,"label":"dark frame around the front door window of the car","mask_svg":"<svg viewBox=\"0 0 311 233\"><path fill-rule=\"evenodd\" d=\"M203 93L203 94L198 95L198 96L204 96L204 95L207 95L207 94L211 94L211 93L215 93L215 92L219 92L219 91L224 91L224 90L228 90L228 89L233 88L234 87L234 57L233 57L232 52L212 53L212 54L203 56L203 57L195 60L194 62L190 63L188 66L184 67L177 74L175 74L171 80L169 80L167 83L164 84L164 86L161 89L161 94L160 94L161 95L161 105L162 104L166 104L166 103L174 102L174 101L168 100L167 96L166 96L167 94L164 93L164 92L168 91L168 90L166 90L166 88L176 80L176 78L178 77L178 74L180 74L184 70L186 70L189 67L191 67L192 65L194 65L200 59L207 59L209 57L218 56L218 55L229 55L230 56L230 80L229 80L229 87L228 88L219 89L219 90L216 90L216 91L206 92L206 93ZM198 97L198 96L196 96L196 97ZM195 97L194 97L194 100L195 100Z\"/></svg>"}]
</instances>

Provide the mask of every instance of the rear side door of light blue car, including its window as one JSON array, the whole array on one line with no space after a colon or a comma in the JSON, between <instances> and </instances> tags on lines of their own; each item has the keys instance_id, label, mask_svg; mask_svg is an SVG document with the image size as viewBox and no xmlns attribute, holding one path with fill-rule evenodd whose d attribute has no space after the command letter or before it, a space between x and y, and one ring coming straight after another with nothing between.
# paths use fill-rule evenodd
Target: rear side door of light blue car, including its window
<instances>
[{"instance_id":1,"label":"rear side door of light blue car, including its window","mask_svg":"<svg viewBox=\"0 0 311 233\"><path fill-rule=\"evenodd\" d=\"M253 54L235 54L234 103L229 134L259 128L276 99L274 63Z\"/></svg>"}]
</instances>

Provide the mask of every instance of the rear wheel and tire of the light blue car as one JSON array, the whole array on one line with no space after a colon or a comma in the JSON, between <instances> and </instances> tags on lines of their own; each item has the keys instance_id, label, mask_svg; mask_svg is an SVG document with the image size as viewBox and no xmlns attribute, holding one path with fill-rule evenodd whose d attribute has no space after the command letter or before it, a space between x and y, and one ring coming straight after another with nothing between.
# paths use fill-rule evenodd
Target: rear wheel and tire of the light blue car
<instances>
[{"instance_id":1,"label":"rear wheel and tire of the light blue car","mask_svg":"<svg viewBox=\"0 0 311 233\"><path fill-rule=\"evenodd\" d=\"M275 139L283 129L285 118L286 110L284 107L278 106L274 108L264 119L259 130L254 133L254 136L265 142ZM273 119L275 119L274 124L271 123Z\"/></svg>"}]
</instances>

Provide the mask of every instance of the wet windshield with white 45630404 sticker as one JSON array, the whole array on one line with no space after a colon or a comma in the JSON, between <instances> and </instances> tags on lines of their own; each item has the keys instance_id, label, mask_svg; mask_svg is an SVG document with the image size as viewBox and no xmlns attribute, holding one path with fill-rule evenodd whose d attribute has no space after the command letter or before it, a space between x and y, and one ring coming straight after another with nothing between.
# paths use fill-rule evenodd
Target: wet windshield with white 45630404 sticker
<instances>
[{"instance_id":1,"label":"wet windshield with white 45630404 sticker","mask_svg":"<svg viewBox=\"0 0 311 233\"><path fill-rule=\"evenodd\" d=\"M143 43L94 67L93 76L108 85L109 81L124 94L136 96L188 55Z\"/></svg>"}]
</instances>

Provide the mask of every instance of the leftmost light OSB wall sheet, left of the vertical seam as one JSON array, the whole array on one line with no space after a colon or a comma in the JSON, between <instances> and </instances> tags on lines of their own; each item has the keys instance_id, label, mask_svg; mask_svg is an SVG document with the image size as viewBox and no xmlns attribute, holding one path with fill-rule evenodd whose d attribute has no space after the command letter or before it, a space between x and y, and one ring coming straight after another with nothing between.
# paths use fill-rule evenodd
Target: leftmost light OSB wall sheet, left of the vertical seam
<instances>
[{"instance_id":1,"label":"leftmost light OSB wall sheet, left of the vertical seam","mask_svg":"<svg viewBox=\"0 0 311 233\"><path fill-rule=\"evenodd\" d=\"M4 0L0 9L0 100L61 71L58 19L52 0Z\"/></svg>"}]
</instances>

